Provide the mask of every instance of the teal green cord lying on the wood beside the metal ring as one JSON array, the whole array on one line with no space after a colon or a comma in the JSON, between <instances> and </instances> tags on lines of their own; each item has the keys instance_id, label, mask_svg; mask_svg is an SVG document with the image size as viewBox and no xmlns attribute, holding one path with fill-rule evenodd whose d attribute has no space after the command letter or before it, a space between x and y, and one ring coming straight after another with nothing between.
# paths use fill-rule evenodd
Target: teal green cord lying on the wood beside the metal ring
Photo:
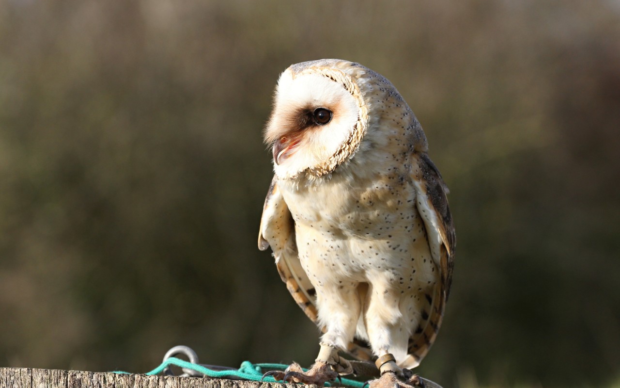
<instances>
[{"instance_id":1,"label":"teal green cord lying on the wood beside the metal ring","mask_svg":"<svg viewBox=\"0 0 620 388\"><path fill-rule=\"evenodd\" d=\"M146 372L146 374L148 375L160 374L161 372L164 371L164 369L167 368L167 366L170 366L170 365L180 366L181 368L192 369L193 371L200 372L201 374L204 374L205 376L214 377L218 379L223 379L229 376L234 376L239 379L252 380L252 381L260 381L260 379L262 379L263 377L263 374L265 373L263 371L271 371L273 369L283 370L283 369L286 369L286 367L288 367L288 365L285 365L285 364L252 364L250 363L250 361L244 361L241 363L241 367L239 369L236 369L236 370L228 369L224 371L215 371L213 369L205 368L202 365L193 364L193 363L190 363L189 361L184 361L179 358L170 357L169 359L166 359L166 361L161 363L160 366L153 369L153 371ZM304 369L304 371L307 371L307 370L308 369ZM114 371L113 373L130 374L129 372L123 372L123 371ZM263 381L277 382L272 376L265 377ZM361 381L356 381L352 379L342 379L342 385L347 386L347 387L352 387L352 388L362 388L364 383ZM330 384L326 382L324 386L330 387Z\"/></svg>"}]
</instances>

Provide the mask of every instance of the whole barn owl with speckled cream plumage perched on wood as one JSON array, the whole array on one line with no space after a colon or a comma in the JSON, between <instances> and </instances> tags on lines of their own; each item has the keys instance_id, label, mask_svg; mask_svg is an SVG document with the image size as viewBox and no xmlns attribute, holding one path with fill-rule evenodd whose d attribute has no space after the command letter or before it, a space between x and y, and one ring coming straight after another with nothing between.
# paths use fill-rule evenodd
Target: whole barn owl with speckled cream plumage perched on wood
<instances>
[{"instance_id":1,"label":"whole barn owl with speckled cream plumage perched on wood","mask_svg":"<svg viewBox=\"0 0 620 388\"><path fill-rule=\"evenodd\" d=\"M281 74L264 139L275 174L259 248L272 248L322 330L307 372L293 364L268 374L322 385L360 373L342 352L375 361L371 388L415 386L410 369L441 325L455 245L448 189L415 115L381 74L308 61Z\"/></svg>"}]
</instances>

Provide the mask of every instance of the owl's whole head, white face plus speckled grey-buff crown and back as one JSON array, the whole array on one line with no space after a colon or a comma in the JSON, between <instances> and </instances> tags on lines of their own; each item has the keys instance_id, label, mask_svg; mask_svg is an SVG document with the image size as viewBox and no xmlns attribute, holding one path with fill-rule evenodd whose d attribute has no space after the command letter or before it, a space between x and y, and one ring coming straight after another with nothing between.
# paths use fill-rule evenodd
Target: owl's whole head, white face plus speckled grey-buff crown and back
<instances>
[{"instance_id":1,"label":"owl's whole head, white face plus speckled grey-buff crown and back","mask_svg":"<svg viewBox=\"0 0 620 388\"><path fill-rule=\"evenodd\" d=\"M317 178L352 160L360 148L387 144L390 133L382 125L386 104L409 112L401 119L417 125L418 130L407 130L420 132L421 137L414 137L425 145L409 106L380 74L337 59L291 65L278 79L264 133L272 147L275 174Z\"/></svg>"}]
</instances>

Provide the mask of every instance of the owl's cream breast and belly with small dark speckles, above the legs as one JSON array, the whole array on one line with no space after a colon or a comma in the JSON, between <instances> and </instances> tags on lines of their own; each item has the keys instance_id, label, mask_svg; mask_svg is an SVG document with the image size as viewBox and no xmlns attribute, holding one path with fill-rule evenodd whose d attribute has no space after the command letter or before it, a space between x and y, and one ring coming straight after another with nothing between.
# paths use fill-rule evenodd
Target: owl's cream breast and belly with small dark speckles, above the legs
<instances>
[{"instance_id":1,"label":"owl's cream breast and belly with small dark speckles, above the legs","mask_svg":"<svg viewBox=\"0 0 620 388\"><path fill-rule=\"evenodd\" d=\"M425 291L417 284L434 286L438 271L408 179L398 171L332 175L301 188L283 184L313 286L364 282L407 296Z\"/></svg>"}]
</instances>

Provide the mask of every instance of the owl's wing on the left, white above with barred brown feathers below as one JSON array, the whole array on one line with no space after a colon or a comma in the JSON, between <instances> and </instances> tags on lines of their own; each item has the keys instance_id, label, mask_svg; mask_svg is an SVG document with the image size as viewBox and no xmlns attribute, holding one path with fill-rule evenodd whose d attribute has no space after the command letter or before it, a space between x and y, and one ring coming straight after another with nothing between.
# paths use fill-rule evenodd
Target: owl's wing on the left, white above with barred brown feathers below
<instances>
[{"instance_id":1,"label":"owl's wing on the left, white above with barred brown feathers below","mask_svg":"<svg viewBox=\"0 0 620 388\"><path fill-rule=\"evenodd\" d=\"M259 230L259 249L264 251L270 246L278 273L285 282L288 292L291 293L301 310L308 315L308 318L318 324L316 291L299 262L295 223L275 176L267 192L267 198L265 198ZM325 331L324 328L322 331ZM355 340L350 343L347 351L361 360L369 360L372 357L368 345L363 341Z\"/></svg>"}]
</instances>

